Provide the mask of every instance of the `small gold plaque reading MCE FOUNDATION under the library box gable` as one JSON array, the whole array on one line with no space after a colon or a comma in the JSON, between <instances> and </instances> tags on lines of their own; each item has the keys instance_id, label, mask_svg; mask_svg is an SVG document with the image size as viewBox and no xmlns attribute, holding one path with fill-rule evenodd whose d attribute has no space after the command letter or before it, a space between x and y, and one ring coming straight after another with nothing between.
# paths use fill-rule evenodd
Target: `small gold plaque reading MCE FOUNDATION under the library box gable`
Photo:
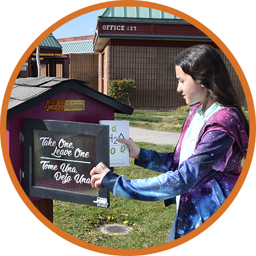
<instances>
[{"instance_id":1,"label":"small gold plaque reading MCE FOUNDATION under the library box gable","mask_svg":"<svg viewBox=\"0 0 256 256\"><path fill-rule=\"evenodd\" d=\"M47 100L46 111L82 111L84 100Z\"/></svg>"}]
</instances>

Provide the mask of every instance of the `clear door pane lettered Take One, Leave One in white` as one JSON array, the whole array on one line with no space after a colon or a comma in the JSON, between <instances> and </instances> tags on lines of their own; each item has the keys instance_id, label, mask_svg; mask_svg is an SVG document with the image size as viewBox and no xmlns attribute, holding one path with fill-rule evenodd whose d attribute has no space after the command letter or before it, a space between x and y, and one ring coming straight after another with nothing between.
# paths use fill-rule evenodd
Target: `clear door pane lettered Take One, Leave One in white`
<instances>
[{"instance_id":1,"label":"clear door pane lettered Take One, Leave One in white","mask_svg":"<svg viewBox=\"0 0 256 256\"><path fill-rule=\"evenodd\" d=\"M97 195L91 169L97 165L95 136L34 131L34 184Z\"/></svg>"}]
</instances>

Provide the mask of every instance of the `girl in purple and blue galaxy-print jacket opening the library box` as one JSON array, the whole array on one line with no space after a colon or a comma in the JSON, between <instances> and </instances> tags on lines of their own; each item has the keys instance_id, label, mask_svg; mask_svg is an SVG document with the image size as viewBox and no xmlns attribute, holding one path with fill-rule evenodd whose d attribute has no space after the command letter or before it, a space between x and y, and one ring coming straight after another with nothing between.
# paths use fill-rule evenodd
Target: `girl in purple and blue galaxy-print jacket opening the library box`
<instances>
[{"instance_id":1,"label":"girl in purple and blue galaxy-print jacket opening the library box","mask_svg":"<svg viewBox=\"0 0 256 256\"><path fill-rule=\"evenodd\" d=\"M249 124L219 53L208 45L181 52L176 61L177 91L191 106L174 153L129 146L135 164L163 173L154 178L126 180L94 167L92 186L115 196L177 204L168 242L205 222L236 184L246 156ZM198 103L200 102L200 103ZM198 104L195 104L198 103ZM194 105L195 104L195 105ZM223 216L198 237L174 249L231 249L239 239L242 190Z\"/></svg>"}]
</instances>

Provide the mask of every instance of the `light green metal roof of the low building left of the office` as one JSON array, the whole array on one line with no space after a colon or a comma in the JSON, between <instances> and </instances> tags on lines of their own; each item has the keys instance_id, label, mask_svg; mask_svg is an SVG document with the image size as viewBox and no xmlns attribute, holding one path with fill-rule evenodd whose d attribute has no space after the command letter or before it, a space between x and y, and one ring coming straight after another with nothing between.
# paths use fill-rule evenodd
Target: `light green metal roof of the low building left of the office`
<instances>
[{"instance_id":1,"label":"light green metal roof of the low building left of the office","mask_svg":"<svg viewBox=\"0 0 256 256\"><path fill-rule=\"evenodd\" d=\"M63 54L93 52L93 40L60 42Z\"/></svg>"}]
</instances>

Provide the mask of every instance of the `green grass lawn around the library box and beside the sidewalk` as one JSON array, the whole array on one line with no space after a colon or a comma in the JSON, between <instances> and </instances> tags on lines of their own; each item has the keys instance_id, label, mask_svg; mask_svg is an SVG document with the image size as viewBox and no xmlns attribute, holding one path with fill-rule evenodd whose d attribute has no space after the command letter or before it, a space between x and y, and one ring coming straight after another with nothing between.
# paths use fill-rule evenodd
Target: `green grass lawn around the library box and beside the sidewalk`
<instances>
[{"instance_id":1,"label":"green grass lawn around the library box and beside the sidewalk","mask_svg":"<svg viewBox=\"0 0 256 256\"><path fill-rule=\"evenodd\" d=\"M187 112L135 111L131 126L160 131L179 132ZM129 117L129 116L128 116ZM128 120L127 115L125 119ZM116 119L122 119L116 114ZM176 122L176 123L175 123ZM168 128L166 128L168 126ZM173 151L171 145L139 142L139 146L158 152ZM133 164L115 167L127 179L158 175ZM54 224L72 236L91 244L117 249L138 249L164 244L176 214L176 205L165 207L160 202L141 202L116 198L112 194L108 209L54 200ZM109 218L110 217L110 218ZM133 228L126 236L110 236L100 232L104 224L122 224ZM30 211L24 204L6 204L6 248L30 249ZM81 249L54 234L54 249ZM250 176L244 184L240 240L233 249L250 249Z\"/></svg>"}]
</instances>

